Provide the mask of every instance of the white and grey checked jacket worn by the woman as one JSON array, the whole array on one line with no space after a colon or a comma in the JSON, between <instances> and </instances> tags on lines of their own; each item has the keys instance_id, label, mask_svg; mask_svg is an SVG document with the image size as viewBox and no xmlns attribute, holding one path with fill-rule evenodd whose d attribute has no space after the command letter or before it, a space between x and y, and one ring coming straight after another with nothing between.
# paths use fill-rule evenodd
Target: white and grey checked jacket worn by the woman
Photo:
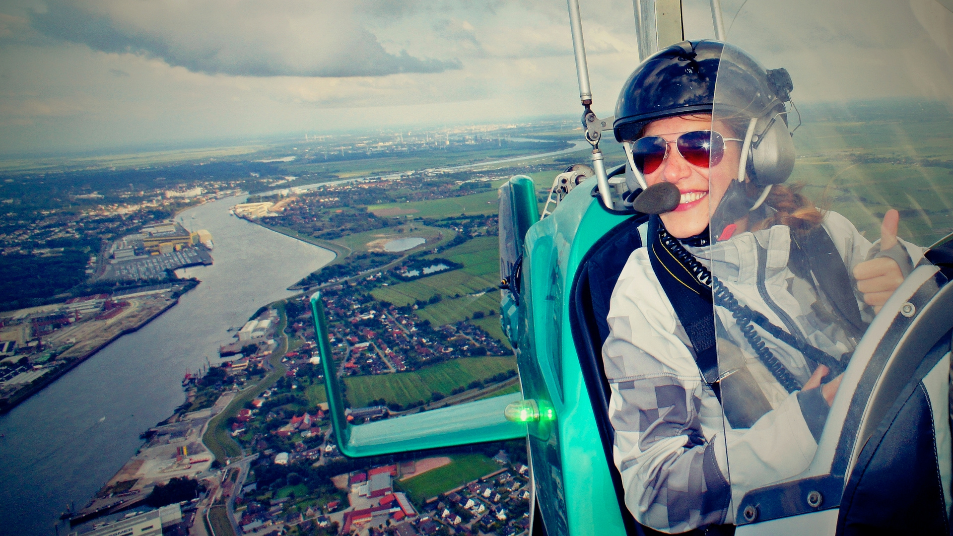
<instances>
[{"instance_id":1,"label":"white and grey checked jacket worn by the woman","mask_svg":"<svg viewBox=\"0 0 953 536\"><path fill-rule=\"evenodd\" d=\"M837 213L826 213L822 225L848 273L867 258L889 256L899 260L906 275L923 256L922 248L906 242L899 245L906 255L897 255L900 247L880 253L879 246ZM790 240L788 227L777 225L686 249L703 259L741 304L788 333L831 356L852 351L857 341L825 316L815 285L797 278L789 268ZM871 320L872 310L860 294L856 298L863 320ZM746 401L731 400L731 394L722 390L719 402L702 380L646 248L631 254L610 301L610 334L602 346L602 359L612 387L609 417L616 430L615 464L625 503L635 518L666 532L733 523L730 505L739 504L745 492L806 468L826 419L820 389L789 394L758 361L731 313L721 307L716 311L727 330L719 334L721 375L726 366L745 369L739 376L748 379L749 387L757 384L761 402L768 404L743 425L726 418L722 403ZM798 351L758 331L798 381L807 381L811 364Z\"/></svg>"}]
</instances>

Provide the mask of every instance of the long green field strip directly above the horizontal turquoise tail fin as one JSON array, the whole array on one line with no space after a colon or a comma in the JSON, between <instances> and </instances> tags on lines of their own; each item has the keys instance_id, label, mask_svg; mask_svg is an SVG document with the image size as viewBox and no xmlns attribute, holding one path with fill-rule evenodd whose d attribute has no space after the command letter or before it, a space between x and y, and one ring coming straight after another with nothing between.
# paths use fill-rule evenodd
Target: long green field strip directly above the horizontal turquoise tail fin
<instances>
[{"instance_id":1,"label":"long green field strip directly above the horizontal turquoise tail fin","mask_svg":"<svg viewBox=\"0 0 953 536\"><path fill-rule=\"evenodd\" d=\"M517 360L512 356L461 358L426 366L415 372L355 376L345 378L344 382L347 384L348 400L354 407L364 407L368 402L381 398L388 403L406 405L429 401L432 392L449 395L455 387L516 368Z\"/></svg>"}]
</instances>

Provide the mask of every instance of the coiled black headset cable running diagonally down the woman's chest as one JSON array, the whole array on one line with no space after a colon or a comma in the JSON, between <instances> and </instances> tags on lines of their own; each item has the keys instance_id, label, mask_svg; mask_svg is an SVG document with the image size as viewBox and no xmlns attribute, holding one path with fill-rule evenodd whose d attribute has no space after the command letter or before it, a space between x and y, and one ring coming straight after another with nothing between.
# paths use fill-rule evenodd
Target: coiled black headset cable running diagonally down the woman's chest
<instances>
[{"instance_id":1,"label":"coiled black headset cable running diagonally down the woman's chest","mask_svg":"<svg viewBox=\"0 0 953 536\"><path fill-rule=\"evenodd\" d=\"M758 332L755 330L752 322L760 325L765 331L770 333L776 339L781 340L785 344L797 349L805 358L810 358L829 368L831 375L837 375L843 372L845 367L841 361L836 360L829 354L821 351L818 348L815 348L814 346L802 343L800 340L781 329L781 327L771 323L771 320L768 320L767 317L758 311L754 311L747 305L741 305L738 299L735 298L730 290L728 290L728 287L726 287L718 278L712 276L708 268L701 264L694 255L682 247L682 245L679 243L679 240L669 235L668 232L661 227L659 227L659 241L665 247L665 249L670 251L672 255L679 260L679 263L684 266L694 278L696 278L701 284L712 289L712 292L715 296L715 304L720 305L731 312L732 317L735 319L735 323L738 324L738 327L741 330L741 334L758 355L758 359L764 364L765 367L767 367L769 371L771 371L772 376L774 376L775 379L781 383L781 386L784 387L788 393L801 389L801 382L798 381L798 379L791 374L791 371L789 371L787 367L778 360L777 356L775 356L774 353L766 347L764 340L762 340L760 335L758 335Z\"/></svg>"}]
</instances>

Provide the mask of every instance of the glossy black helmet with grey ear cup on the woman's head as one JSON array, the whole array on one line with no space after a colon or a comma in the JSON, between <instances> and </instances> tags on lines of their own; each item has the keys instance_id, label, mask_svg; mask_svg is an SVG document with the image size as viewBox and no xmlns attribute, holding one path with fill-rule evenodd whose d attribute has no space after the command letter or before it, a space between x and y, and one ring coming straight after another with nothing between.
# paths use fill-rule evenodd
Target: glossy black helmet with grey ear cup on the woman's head
<instances>
[{"instance_id":1,"label":"glossy black helmet with grey ear cup on the woman's head","mask_svg":"<svg viewBox=\"0 0 953 536\"><path fill-rule=\"evenodd\" d=\"M760 185L778 184L794 168L794 144L784 114L793 89L787 71L765 71L738 47L712 40L682 41L649 56L625 81L613 131L621 142L639 137L649 122L673 115L757 118L748 175Z\"/></svg>"}]
</instances>

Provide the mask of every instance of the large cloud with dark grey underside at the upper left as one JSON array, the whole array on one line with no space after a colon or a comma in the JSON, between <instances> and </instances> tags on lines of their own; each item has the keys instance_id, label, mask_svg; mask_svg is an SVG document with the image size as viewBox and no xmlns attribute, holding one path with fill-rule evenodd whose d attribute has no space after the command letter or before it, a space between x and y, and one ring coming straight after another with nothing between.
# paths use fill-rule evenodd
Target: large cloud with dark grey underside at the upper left
<instances>
[{"instance_id":1,"label":"large cloud with dark grey underside at the upper left","mask_svg":"<svg viewBox=\"0 0 953 536\"><path fill-rule=\"evenodd\" d=\"M96 51L159 58L209 74L348 77L461 67L456 59L387 52L373 33L348 16L352 13L295 12L301 6L274 13L279 8L262 12L247 4L209 2L183 13L156 3L148 15L137 17L108 2L91 10L56 1L46 11L32 13L30 23L49 37Z\"/></svg>"}]
</instances>

